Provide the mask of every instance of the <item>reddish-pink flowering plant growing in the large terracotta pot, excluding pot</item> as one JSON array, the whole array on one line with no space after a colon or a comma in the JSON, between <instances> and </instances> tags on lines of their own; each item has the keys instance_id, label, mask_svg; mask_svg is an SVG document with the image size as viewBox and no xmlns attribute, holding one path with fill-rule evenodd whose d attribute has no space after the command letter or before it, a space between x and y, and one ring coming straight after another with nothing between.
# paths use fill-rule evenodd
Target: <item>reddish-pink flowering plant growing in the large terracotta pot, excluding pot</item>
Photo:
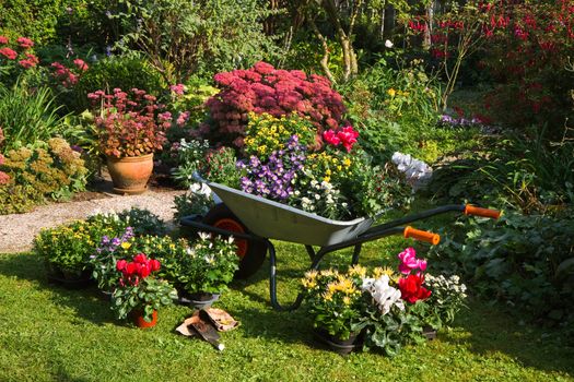
<instances>
[{"instance_id":1,"label":"reddish-pink flowering plant growing in the large terracotta pot, excluding pot","mask_svg":"<svg viewBox=\"0 0 574 382\"><path fill-rule=\"evenodd\" d=\"M163 148L172 114L163 111L155 96L132 88L115 88L112 94L96 91L87 95L98 115L95 124L102 153L120 158L141 156Z\"/></svg>"}]
</instances>

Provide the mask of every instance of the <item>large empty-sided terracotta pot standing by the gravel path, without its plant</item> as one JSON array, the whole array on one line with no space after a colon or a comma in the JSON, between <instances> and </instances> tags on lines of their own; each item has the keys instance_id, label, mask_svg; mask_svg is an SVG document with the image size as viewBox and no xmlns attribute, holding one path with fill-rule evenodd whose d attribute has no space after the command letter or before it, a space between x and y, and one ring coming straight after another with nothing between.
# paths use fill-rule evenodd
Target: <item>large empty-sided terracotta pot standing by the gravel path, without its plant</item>
<instances>
[{"instance_id":1,"label":"large empty-sided terracotta pot standing by the gravel path, without its plant","mask_svg":"<svg viewBox=\"0 0 574 382\"><path fill-rule=\"evenodd\" d=\"M107 169L114 182L114 192L130 195L143 193L153 171L153 154L121 158L108 156Z\"/></svg>"}]
</instances>

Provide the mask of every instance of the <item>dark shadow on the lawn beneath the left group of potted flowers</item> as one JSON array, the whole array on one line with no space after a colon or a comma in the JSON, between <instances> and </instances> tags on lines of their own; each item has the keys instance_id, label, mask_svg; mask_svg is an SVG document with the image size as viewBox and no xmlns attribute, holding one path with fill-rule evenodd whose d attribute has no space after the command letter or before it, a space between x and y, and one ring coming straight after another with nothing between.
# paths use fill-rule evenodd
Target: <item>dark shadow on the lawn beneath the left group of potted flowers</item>
<instances>
[{"instance_id":1,"label":"dark shadow on the lawn beneath the left group of potted flowers","mask_svg":"<svg viewBox=\"0 0 574 382\"><path fill-rule=\"evenodd\" d=\"M115 322L109 301L97 288L67 289L48 282L44 261L35 254L15 253L0 255L0 275L33 283L37 290L51 290L51 302L72 308L75 313L97 325Z\"/></svg>"}]
</instances>

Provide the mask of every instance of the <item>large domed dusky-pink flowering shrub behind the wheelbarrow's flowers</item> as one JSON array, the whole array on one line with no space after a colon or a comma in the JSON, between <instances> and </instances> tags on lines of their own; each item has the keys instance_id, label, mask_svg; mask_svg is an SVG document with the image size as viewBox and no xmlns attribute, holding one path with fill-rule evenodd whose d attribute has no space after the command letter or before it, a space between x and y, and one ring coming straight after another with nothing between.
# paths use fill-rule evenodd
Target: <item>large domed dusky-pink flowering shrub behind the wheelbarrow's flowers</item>
<instances>
[{"instance_id":1,"label":"large domed dusky-pink flowering shrub behind the wheelbarrow's flowers","mask_svg":"<svg viewBox=\"0 0 574 382\"><path fill-rule=\"evenodd\" d=\"M279 70L258 62L248 70L218 73L214 80L221 92L207 106L215 141L242 147L249 111L276 118L296 112L308 117L319 134L343 123L342 97L320 75L307 77L302 71ZM209 131L209 126L203 131Z\"/></svg>"}]
</instances>

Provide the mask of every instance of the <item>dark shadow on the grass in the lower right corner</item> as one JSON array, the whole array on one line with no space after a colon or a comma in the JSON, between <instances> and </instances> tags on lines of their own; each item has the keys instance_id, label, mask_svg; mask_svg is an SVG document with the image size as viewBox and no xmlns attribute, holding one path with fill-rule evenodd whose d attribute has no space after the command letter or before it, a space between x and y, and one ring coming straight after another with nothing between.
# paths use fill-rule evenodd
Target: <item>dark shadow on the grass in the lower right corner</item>
<instances>
[{"instance_id":1,"label":"dark shadow on the grass in the lower right corner","mask_svg":"<svg viewBox=\"0 0 574 382\"><path fill-rule=\"evenodd\" d=\"M572 339L569 344L569 339L557 329L518 325L518 320L505 314L501 307L473 300L468 310L459 312L455 322L470 336L460 337L452 333L442 335L441 339L465 345L481 356L500 351L525 367L574 375Z\"/></svg>"}]
</instances>

